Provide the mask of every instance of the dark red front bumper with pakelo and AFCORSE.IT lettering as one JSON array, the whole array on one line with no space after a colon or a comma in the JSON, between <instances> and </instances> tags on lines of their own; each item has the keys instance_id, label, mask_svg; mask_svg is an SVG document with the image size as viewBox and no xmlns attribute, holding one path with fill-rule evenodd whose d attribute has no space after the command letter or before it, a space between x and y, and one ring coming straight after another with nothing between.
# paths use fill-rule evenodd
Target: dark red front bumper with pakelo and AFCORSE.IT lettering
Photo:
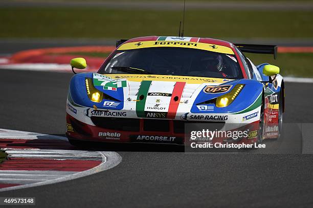
<instances>
[{"instance_id":1,"label":"dark red front bumper with pakelo and AFCORSE.IT lettering","mask_svg":"<svg viewBox=\"0 0 313 208\"><path fill-rule=\"evenodd\" d=\"M95 121L95 125L90 125L83 123L72 117L69 113L66 113L66 136L72 140L94 142L184 145L191 142L189 137L185 137L186 122L187 121L158 119L108 118L108 120L104 119L102 123L100 121ZM221 125L225 125L225 123L220 123ZM256 122L247 124L246 126L240 127L240 129L245 128L249 129L251 132L255 132L258 129L258 125L256 124ZM253 136L240 138L240 140L236 141L229 139L225 140L223 137L214 137L210 143L253 144L256 141L257 135L254 134Z\"/></svg>"}]
</instances>

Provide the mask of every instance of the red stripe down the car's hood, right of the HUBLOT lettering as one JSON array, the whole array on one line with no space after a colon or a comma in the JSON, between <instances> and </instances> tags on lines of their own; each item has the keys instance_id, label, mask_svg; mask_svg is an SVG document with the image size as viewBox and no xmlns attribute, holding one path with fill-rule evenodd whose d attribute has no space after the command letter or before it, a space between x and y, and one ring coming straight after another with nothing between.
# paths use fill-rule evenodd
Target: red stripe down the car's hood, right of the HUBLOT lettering
<instances>
[{"instance_id":1,"label":"red stripe down the car's hood, right of the HUBLOT lettering","mask_svg":"<svg viewBox=\"0 0 313 208\"><path fill-rule=\"evenodd\" d=\"M186 82L176 82L174 89L173 89L173 93L172 93L172 97L171 97L171 101L168 107L168 113L167 113L167 118L168 119L174 119L176 112L177 112L177 108L178 105L180 104L181 101L181 97L183 94L183 90L185 87ZM174 101L175 97L178 97L177 101Z\"/></svg>"}]
</instances>

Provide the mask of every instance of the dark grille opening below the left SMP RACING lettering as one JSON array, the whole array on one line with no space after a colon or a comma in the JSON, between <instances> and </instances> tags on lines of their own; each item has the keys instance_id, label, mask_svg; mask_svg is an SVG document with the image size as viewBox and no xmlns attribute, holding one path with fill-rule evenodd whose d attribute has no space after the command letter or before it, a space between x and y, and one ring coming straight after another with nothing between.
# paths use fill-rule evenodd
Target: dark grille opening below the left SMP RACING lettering
<instances>
[{"instance_id":1,"label":"dark grille opening below the left SMP RACING lettering","mask_svg":"<svg viewBox=\"0 0 313 208\"><path fill-rule=\"evenodd\" d=\"M121 119L109 117L91 117L92 122L101 128L119 131L139 131L139 119Z\"/></svg>"}]
</instances>

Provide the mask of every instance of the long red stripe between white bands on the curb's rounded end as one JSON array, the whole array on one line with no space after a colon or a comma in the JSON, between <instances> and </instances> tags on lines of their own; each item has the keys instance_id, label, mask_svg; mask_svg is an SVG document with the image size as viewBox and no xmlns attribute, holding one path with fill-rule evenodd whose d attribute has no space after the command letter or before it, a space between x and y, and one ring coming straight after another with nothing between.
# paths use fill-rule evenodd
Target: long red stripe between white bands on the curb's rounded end
<instances>
[{"instance_id":1,"label":"long red stripe between white bands on the curb's rounded end","mask_svg":"<svg viewBox=\"0 0 313 208\"><path fill-rule=\"evenodd\" d=\"M9 158L0 165L0 170L31 171L85 171L100 165L95 160L57 160L35 158Z\"/></svg>"}]
</instances>

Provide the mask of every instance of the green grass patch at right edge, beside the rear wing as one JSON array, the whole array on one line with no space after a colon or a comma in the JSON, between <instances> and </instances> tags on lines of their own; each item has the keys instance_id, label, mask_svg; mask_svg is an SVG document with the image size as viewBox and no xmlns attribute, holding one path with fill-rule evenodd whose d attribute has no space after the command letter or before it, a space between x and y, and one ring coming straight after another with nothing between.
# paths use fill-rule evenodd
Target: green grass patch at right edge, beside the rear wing
<instances>
[{"instance_id":1,"label":"green grass patch at right edge, beside the rear wing","mask_svg":"<svg viewBox=\"0 0 313 208\"><path fill-rule=\"evenodd\" d=\"M276 60L273 55L245 54L255 65L270 63L280 67L282 76L313 77L313 53L278 54Z\"/></svg>"}]
</instances>

